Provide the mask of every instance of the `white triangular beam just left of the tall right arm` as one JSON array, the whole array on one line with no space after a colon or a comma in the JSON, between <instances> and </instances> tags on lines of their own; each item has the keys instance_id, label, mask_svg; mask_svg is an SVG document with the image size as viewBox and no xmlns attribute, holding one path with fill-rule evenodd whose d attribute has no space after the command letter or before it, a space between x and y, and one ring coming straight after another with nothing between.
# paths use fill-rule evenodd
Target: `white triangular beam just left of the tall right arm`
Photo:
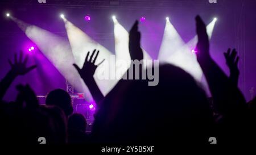
<instances>
[{"instance_id":1,"label":"white triangular beam just left of the tall right arm","mask_svg":"<svg viewBox=\"0 0 256 155\"><path fill-rule=\"evenodd\" d=\"M162 61L179 66L181 69L191 74L196 81L200 81L202 70L196 61L195 55L192 55L192 49L194 48L189 49L187 45L185 45L179 32L177 32L176 28L167 17L158 55L159 62Z\"/></svg>"}]
</instances>

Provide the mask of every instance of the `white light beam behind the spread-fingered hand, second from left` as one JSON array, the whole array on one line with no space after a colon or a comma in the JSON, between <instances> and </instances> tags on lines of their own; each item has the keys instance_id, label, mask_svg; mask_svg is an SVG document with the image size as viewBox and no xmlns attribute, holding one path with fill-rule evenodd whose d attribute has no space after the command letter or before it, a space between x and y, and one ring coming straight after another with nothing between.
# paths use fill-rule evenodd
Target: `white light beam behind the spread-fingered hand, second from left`
<instances>
[{"instance_id":1,"label":"white light beam behind the spread-fingered hand, second from left","mask_svg":"<svg viewBox=\"0 0 256 155\"><path fill-rule=\"evenodd\" d=\"M94 74L94 79L100 88L101 92L106 95L110 90L115 86L118 82L115 79L111 79L111 73L109 73L110 64L115 63L113 61L112 52L106 49L104 46L99 44L97 41L93 40L88 34L82 31L80 28L76 27L73 23L67 20L65 23L65 28L68 35L69 44L71 45L71 51L73 53L73 57L75 58L75 63L82 68L85 61L85 56L88 51L93 51L93 49L97 49L100 51L98 58L96 60L96 64L100 63L101 60L104 60L104 64L100 65L99 68L96 69ZM128 46L127 46L128 47ZM91 52L90 52L91 53ZM70 64L70 63L68 63ZM81 85L81 84L80 84ZM84 85L84 83L82 84ZM81 91L86 94L86 99L92 101L92 96L90 95L88 87L84 85L82 87L84 90ZM95 104L93 104L95 105ZM95 107L95 106L94 106ZM93 108L94 109L94 108Z\"/></svg>"}]
</instances>

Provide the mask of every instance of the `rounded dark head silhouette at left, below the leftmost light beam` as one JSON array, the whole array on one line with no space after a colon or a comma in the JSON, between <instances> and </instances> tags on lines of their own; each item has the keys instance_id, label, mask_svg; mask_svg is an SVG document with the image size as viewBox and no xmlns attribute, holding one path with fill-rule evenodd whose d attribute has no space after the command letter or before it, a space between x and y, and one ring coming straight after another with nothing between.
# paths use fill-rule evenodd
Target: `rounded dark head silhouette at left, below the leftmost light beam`
<instances>
[{"instance_id":1,"label":"rounded dark head silhouette at left, below the leftmost light beam","mask_svg":"<svg viewBox=\"0 0 256 155\"><path fill-rule=\"evenodd\" d=\"M71 97L67 91L62 89L55 89L51 91L46 98L47 105L54 105L60 107L66 116L69 116L73 112L73 107L71 103Z\"/></svg>"}]
</instances>

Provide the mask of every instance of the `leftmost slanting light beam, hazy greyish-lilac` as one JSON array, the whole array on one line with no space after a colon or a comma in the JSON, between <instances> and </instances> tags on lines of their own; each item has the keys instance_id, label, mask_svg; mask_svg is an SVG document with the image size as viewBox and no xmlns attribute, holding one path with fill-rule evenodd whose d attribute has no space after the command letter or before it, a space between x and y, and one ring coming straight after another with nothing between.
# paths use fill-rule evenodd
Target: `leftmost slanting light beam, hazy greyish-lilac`
<instances>
[{"instance_id":1,"label":"leftmost slanting light beam, hazy greyish-lilac","mask_svg":"<svg viewBox=\"0 0 256 155\"><path fill-rule=\"evenodd\" d=\"M36 46L28 46L26 48L27 52L34 53L37 49L40 49L40 52L42 52L44 56L52 62L56 69L59 70L63 77L65 77L65 79L67 79L67 81L69 81L77 91L82 93L89 92L89 90L85 90L86 86L82 81L80 81L79 73L71 65L76 62L67 40L40 27L25 23L22 20L16 18L13 20L18 24L21 30L26 33L26 36L36 44Z\"/></svg>"}]
</instances>

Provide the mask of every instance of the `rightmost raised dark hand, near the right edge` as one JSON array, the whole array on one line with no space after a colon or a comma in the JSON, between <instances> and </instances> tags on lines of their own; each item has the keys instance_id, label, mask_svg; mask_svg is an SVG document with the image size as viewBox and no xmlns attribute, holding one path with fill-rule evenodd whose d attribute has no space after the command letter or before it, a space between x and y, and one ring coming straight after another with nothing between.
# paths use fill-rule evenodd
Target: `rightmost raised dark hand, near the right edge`
<instances>
[{"instance_id":1,"label":"rightmost raised dark hand, near the right edge","mask_svg":"<svg viewBox=\"0 0 256 155\"><path fill-rule=\"evenodd\" d=\"M225 59L226 59L226 65L228 65L229 70L230 70L230 76L229 79L234 85L238 85L238 78L240 71L238 69L238 61L239 61L239 56L237 56L237 51L236 49L233 49L232 52L231 49L229 48L226 53L224 53Z\"/></svg>"}]
</instances>

